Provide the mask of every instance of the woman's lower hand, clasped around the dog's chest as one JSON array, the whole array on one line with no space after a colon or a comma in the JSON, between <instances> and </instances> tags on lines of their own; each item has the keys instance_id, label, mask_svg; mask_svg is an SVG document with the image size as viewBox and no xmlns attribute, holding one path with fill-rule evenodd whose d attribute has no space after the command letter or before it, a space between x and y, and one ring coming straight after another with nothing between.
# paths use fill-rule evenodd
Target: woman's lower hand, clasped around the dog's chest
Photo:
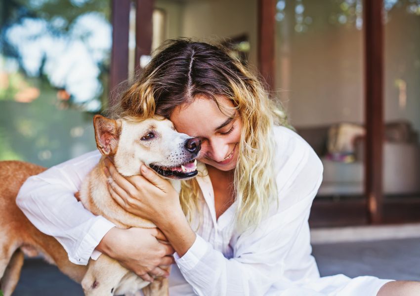
<instances>
[{"instance_id":1,"label":"woman's lower hand, clasped around the dog's chest","mask_svg":"<svg viewBox=\"0 0 420 296\"><path fill-rule=\"evenodd\" d=\"M166 241L165 235L157 228L114 227L96 249L116 259L143 280L153 282L153 276L168 277L168 272L161 267L174 263L174 250Z\"/></svg>"}]
</instances>

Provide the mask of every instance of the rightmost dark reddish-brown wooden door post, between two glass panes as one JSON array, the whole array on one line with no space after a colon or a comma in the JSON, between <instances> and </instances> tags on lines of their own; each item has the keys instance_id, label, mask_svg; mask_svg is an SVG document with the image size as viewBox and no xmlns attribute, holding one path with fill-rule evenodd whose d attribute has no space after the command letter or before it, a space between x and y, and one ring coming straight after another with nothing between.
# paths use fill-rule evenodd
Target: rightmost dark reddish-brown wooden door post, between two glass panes
<instances>
[{"instance_id":1,"label":"rightmost dark reddish-brown wooden door post, between two glass panes","mask_svg":"<svg viewBox=\"0 0 420 296\"><path fill-rule=\"evenodd\" d=\"M383 0L363 1L365 71L365 196L369 221L383 221Z\"/></svg>"}]
</instances>

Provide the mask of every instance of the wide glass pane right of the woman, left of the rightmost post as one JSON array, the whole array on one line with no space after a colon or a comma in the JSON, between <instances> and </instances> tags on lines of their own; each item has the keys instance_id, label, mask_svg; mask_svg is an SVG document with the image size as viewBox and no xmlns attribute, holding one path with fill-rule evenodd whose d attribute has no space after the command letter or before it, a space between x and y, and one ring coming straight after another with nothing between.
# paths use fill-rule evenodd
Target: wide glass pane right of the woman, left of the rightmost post
<instances>
[{"instance_id":1,"label":"wide glass pane right of the woman, left of the rightmost post","mask_svg":"<svg viewBox=\"0 0 420 296\"><path fill-rule=\"evenodd\" d=\"M324 164L318 198L363 198L362 1L278 0L276 20L276 90Z\"/></svg>"}]
</instances>

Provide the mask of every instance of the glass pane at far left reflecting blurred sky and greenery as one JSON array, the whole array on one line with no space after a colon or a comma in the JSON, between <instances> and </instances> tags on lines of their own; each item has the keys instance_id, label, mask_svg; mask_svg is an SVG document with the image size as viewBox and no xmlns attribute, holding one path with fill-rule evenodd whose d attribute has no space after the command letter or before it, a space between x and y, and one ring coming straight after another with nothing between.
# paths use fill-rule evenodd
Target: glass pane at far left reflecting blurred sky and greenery
<instances>
[{"instance_id":1,"label":"glass pane at far left reflecting blurred sky and greenery","mask_svg":"<svg viewBox=\"0 0 420 296\"><path fill-rule=\"evenodd\" d=\"M1 5L0 160L51 166L94 149L93 112L109 92L110 2Z\"/></svg>"}]
</instances>

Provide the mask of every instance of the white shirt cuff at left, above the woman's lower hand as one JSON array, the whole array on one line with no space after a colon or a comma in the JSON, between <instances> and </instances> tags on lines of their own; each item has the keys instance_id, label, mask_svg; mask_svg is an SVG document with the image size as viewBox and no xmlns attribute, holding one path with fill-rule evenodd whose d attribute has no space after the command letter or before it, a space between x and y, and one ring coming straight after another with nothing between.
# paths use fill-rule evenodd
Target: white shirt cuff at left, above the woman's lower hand
<instances>
[{"instance_id":1,"label":"white shirt cuff at left, above the woman's lower hand","mask_svg":"<svg viewBox=\"0 0 420 296\"><path fill-rule=\"evenodd\" d=\"M86 265L89 261L89 258L94 260L102 254L101 252L94 250L105 234L112 228L116 227L113 222L106 220L102 216L97 216L96 221L88 230L87 234L84 236L82 242L77 249L74 258L69 260L75 264Z\"/></svg>"}]
</instances>

